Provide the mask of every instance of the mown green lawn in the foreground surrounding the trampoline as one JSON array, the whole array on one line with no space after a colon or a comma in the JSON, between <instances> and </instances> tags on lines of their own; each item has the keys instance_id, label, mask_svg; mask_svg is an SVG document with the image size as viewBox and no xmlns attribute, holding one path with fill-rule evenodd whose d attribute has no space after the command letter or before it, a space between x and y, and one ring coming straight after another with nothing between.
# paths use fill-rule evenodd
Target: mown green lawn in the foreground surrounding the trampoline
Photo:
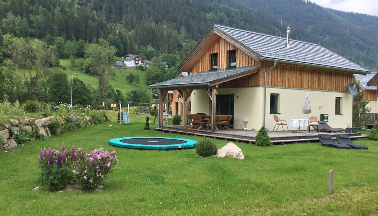
<instances>
[{"instance_id":1,"label":"mown green lawn in the foreground surrounding the trampoline","mask_svg":"<svg viewBox=\"0 0 378 216\"><path fill-rule=\"evenodd\" d=\"M113 118L115 115L111 115ZM139 120L134 122L133 120ZM135 150L107 144L126 136L198 136L107 122L0 152L0 215L377 215L378 143L343 150L319 143L271 147L236 143L245 160L201 158L195 149ZM108 127L112 124L113 127ZM151 127L156 125L151 124ZM227 143L214 140L221 148ZM41 148L116 150L119 164L102 191L36 192ZM335 194L328 194L334 170Z\"/></svg>"}]
</instances>

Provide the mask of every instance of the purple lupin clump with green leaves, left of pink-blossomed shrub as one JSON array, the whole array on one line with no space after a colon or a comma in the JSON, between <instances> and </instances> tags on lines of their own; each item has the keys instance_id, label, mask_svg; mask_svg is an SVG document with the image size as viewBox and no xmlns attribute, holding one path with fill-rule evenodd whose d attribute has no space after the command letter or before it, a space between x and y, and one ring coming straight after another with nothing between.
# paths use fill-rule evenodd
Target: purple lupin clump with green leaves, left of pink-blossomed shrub
<instances>
[{"instance_id":1,"label":"purple lupin clump with green leaves, left of pink-blossomed shrub","mask_svg":"<svg viewBox=\"0 0 378 216\"><path fill-rule=\"evenodd\" d=\"M40 151L40 167L41 176L39 185L49 191L63 189L72 179L72 172L70 167L73 161L76 161L75 148L73 151L67 152L64 144L62 150L55 149Z\"/></svg>"}]
</instances>

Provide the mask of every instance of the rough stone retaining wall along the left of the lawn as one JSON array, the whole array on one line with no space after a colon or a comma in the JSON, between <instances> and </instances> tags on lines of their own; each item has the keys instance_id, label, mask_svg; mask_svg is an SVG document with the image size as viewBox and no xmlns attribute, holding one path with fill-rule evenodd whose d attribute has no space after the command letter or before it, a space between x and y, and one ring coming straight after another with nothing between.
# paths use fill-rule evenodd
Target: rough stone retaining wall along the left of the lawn
<instances>
[{"instance_id":1,"label":"rough stone retaining wall along the left of the lawn","mask_svg":"<svg viewBox=\"0 0 378 216\"><path fill-rule=\"evenodd\" d=\"M78 128L79 124L82 126L93 125L93 118L90 116L74 116L68 115L73 122L73 128ZM28 130L34 133L42 134L46 137L50 137L49 126L52 121L64 122L63 118L60 116L49 116L41 119L34 119L29 117L21 117L20 119L10 119L10 123L4 123L4 126L0 126L0 144L2 150L9 150L17 148L17 143L15 138L19 135L21 130ZM84 124L84 125L83 125ZM60 131L58 132L60 133ZM31 138L30 141L33 141L34 138Z\"/></svg>"}]
</instances>

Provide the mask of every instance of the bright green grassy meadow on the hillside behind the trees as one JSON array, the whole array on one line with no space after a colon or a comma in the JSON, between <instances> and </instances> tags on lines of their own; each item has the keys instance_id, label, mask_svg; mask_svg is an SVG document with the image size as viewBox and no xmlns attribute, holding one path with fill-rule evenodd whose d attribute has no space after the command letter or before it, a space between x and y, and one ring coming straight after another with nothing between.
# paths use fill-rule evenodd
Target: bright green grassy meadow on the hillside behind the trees
<instances>
[{"instance_id":1,"label":"bright green grassy meadow on the hillside behind the trees","mask_svg":"<svg viewBox=\"0 0 378 216\"><path fill-rule=\"evenodd\" d=\"M82 70L79 68L70 68L71 66L69 59L60 59L60 64L61 66L64 66L66 68L65 70L60 70L66 73L69 79L71 79L70 73L73 72L75 73L75 78L78 78L82 80L85 84L89 84L97 89L98 79L95 76L83 73ZM110 85L112 85L114 89L119 89L123 94L130 92L131 90L135 90L136 88L149 89L148 85L146 85L146 76L144 71L135 69L111 69L111 71L114 71L116 76L114 77L114 79L109 75L107 76ZM126 76L130 73L133 73L134 75L139 75L140 83L138 85L131 85L126 83ZM147 92L150 93L150 91ZM150 94L152 95L152 93Z\"/></svg>"}]
</instances>

